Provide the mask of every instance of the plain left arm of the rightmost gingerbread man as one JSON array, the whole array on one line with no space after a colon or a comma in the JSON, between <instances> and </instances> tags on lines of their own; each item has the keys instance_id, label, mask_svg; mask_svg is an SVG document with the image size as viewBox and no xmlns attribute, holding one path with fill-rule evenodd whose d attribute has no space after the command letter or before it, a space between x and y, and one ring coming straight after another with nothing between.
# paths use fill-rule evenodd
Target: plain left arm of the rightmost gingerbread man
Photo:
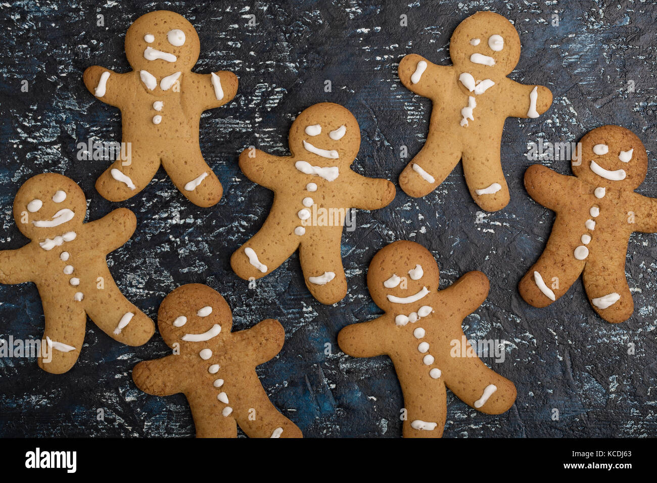
<instances>
[{"instance_id":1,"label":"plain left arm of the rightmost gingerbread man","mask_svg":"<svg viewBox=\"0 0 657 483\"><path fill-rule=\"evenodd\" d=\"M565 198L556 193L578 192L576 177L559 174L541 164L532 164L525 172L525 189L533 200L557 212Z\"/></svg>"}]
</instances>

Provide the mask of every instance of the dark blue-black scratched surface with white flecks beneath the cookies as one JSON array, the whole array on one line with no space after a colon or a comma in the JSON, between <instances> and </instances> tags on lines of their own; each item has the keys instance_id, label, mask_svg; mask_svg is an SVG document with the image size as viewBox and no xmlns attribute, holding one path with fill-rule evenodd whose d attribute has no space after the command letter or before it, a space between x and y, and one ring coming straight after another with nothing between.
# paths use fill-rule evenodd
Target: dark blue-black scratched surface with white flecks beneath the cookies
<instances>
[{"instance_id":1,"label":"dark blue-black scratched surface with white flecks beneath the cookies","mask_svg":"<svg viewBox=\"0 0 657 483\"><path fill-rule=\"evenodd\" d=\"M94 189L108 162L76 157L78 143L120 141L121 131L118 110L84 89L83 70L99 64L127 71L125 31L156 9L177 11L194 24L201 39L196 72L231 70L240 79L235 100L201 119L204 156L225 189L214 208L187 202L162 170L142 193L112 204ZM407 146L410 156L420 149L431 108L399 83L397 63L414 52L448 64L454 28L478 10L507 16L520 34L522 57L510 77L547 85L555 96L545 116L507 120L502 159L509 206L478 218L459 165L424 198L397 189L387 208L357 212L357 229L345 232L342 244L349 293L335 306L309 296L296 254L255 288L238 279L229 256L256 233L273 198L240 173L238 153L255 144L287 154L294 116L333 101L349 108L361 127L353 168L397 183L409 160L400 159L400 148ZM374 253L397 239L417 241L438 258L442 288L472 269L491 279L489 297L463 327L471 339L507 340L503 363L484 360L518 388L514 406L499 416L478 413L448 393L445 437L656 436L657 235L631 238L626 271L636 310L625 323L597 317L581 281L545 309L528 306L516 288L554 218L522 185L533 164L525 156L528 142L577 141L603 124L628 127L648 150L650 170L638 191L657 196L656 12L647 1L2 3L0 247L26 243L11 216L18 187L36 173L64 173L85 191L89 219L118 206L137 214L134 237L108 264L148 315L155 319L178 285L207 283L229 302L235 330L268 317L283 323L286 344L258 373L271 400L306 436L398 437L401 390L390 359L345 356L336 336L382 313L365 285ZM256 26L248 25L250 14ZM402 14L407 26L399 24ZM23 80L28 92L20 89ZM567 160L543 162L570 174ZM0 286L0 336L39 338L42 331L35 286ZM35 359L0 359L0 435L192 436L182 395L148 396L131 379L138 361L166 354L158 333L129 348L89 323L78 364L64 375L41 371Z\"/></svg>"}]
</instances>

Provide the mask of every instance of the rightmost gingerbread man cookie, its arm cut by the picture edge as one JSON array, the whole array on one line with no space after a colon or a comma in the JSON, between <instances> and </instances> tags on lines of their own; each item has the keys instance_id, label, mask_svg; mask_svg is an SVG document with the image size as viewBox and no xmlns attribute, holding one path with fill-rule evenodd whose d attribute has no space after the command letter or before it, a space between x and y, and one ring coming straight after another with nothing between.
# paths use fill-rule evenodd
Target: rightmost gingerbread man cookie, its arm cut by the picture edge
<instances>
[{"instance_id":1,"label":"rightmost gingerbread man cookie, its arm cut by the picture edge","mask_svg":"<svg viewBox=\"0 0 657 483\"><path fill-rule=\"evenodd\" d=\"M602 126L581 139L576 157L575 176L537 164L525 173L530 196L556 219L541 258L520 281L520 295L545 307L583 274L593 310L623 322L634 311L625 277L629 237L657 232L657 199L634 193L648 172L648 156L632 131Z\"/></svg>"}]
</instances>

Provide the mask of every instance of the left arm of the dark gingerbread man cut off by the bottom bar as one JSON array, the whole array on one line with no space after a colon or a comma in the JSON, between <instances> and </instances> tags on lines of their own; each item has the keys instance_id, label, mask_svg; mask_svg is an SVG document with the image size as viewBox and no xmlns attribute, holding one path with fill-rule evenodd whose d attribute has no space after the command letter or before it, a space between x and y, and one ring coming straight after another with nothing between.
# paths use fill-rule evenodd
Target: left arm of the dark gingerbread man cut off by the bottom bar
<instances>
[{"instance_id":1,"label":"left arm of the dark gingerbread man cut off by the bottom bar","mask_svg":"<svg viewBox=\"0 0 657 483\"><path fill-rule=\"evenodd\" d=\"M183 392L182 381L187 379L187 371L177 367L177 361L166 356L162 359L143 361L135 365L132 370L132 379L143 392L153 396L171 396Z\"/></svg>"}]
</instances>

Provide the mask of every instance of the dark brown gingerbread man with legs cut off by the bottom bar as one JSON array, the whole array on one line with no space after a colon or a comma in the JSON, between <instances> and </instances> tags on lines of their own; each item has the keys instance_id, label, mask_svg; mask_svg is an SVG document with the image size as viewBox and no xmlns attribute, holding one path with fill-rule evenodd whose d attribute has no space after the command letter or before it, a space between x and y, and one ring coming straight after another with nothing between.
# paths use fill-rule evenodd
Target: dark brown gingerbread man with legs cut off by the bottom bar
<instances>
[{"instance_id":1,"label":"dark brown gingerbread man with legs cut off by the bottom bar","mask_svg":"<svg viewBox=\"0 0 657 483\"><path fill-rule=\"evenodd\" d=\"M135 384L155 396L185 394L198 438L235 438L237 425L252 438L302 438L256 374L283 347L283 326L267 319L231 332L232 325L219 292L197 283L176 288L158 311L160 334L174 353L137 364Z\"/></svg>"}]
</instances>

